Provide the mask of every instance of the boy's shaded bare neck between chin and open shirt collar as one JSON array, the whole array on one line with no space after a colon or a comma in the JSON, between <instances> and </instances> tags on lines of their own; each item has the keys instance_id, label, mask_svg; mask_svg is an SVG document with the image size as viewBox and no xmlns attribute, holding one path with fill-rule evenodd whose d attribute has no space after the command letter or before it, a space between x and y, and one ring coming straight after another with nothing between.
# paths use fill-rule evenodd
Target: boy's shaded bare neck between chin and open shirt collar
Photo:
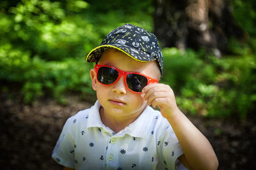
<instances>
[{"instance_id":1,"label":"boy's shaded bare neck between chin and open shirt collar","mask_svg":"<svg viewBox=\"0 0 256 170\"><path fill-rule=\"evenodd\" d=\"M145 108L144 108L145 109ZM117 117L115 115L108 115L105 113L104 108L100 107L100 119L104 125L109 127L115 133L118 133L125 129L127 125L132 124L138 117L140 117L141 113L136 113L132 115L127 115L124 117Z\"/></svg>"}]
</instances>

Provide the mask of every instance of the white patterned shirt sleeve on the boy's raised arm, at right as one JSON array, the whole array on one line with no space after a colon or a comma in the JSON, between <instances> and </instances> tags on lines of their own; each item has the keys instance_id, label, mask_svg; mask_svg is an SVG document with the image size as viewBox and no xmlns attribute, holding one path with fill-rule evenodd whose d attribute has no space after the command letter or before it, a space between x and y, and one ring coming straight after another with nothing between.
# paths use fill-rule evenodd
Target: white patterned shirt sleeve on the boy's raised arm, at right
<instances>
[{"instance_id":1,"label":"white patterned shirt sleeve on the boy's raised arm, at right","mask_svg":"<svg viewBox=\"0 0 256 170\"><path fill-rule=\"evenodd\" d=\"M175 162L183 154L183 151L171 126L164 129L159 139L158 150L157 153L160 154L162 168L175 169Z\"/></svg>"}]
</instances>

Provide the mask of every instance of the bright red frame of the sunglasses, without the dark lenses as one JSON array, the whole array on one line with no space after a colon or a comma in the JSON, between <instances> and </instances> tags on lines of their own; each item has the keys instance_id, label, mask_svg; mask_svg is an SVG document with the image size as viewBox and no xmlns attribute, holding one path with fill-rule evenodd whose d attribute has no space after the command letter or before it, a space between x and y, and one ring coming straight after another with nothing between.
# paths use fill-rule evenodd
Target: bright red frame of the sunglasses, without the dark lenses
<instances>
[{"instance_id":1,"label":"bright red frame of the sunglasses, without the dark lenses","mask_svg":"<svg viewBox=\"0 0 256 170\"><path fill-rule=\"evenodd\" d=\"M125 86L126 86L127 89L129 89L131 92L134 92L134 91L132 91L132 90L128 87L128 85L127 85L127 80L126 80L126 79L127 79L127 74L138 74L138 75L144 76L145 78L147 78L147 81L148 81L147 85L152 84L152 83L158 83L158 80L156 80L156 79L154 79L154 78L150 78L149 76L146 76L145 74L141 74L141 73L137 73L137 72L132 72L132 71L122 71L122 70L120 70L120 69L117 69L116 67L111 67L111 66L107 66L107 65L99 65L99 64L96 64L95 67L94 67L94 68L95 68L95 71L96 71L96 77L98 77L98 71L99 71L100 67L109 67L109 68L112 68L112 69L115 69L116 71L118 71L118 77L116 78L116 80L115 80L113 83L111 83L111 84L109 84L109 85L115 84L115 83L121 78L121 76L124 76ZM97 79L97 81L100 83L100 81L98 80L98 78L96 78L96 79ZM103 84L103 83L100 83L100 84L106 85L106 84ZM141 94L142 92L134 92L134 93Z\"/></svg>"}]
</instances>

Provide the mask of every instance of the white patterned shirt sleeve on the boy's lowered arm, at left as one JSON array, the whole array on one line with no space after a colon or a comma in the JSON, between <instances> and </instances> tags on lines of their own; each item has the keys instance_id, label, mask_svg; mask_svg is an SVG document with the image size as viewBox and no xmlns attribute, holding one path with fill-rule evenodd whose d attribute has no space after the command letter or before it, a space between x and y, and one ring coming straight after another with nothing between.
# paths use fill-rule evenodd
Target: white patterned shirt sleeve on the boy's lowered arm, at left
<instances>
[{"instance_id":1,"label":"white patterned shirt sleeve on the boy's lowered arm, at left","mask_svg":"<svg viewBox=\"0 0 256 170\"><path fill-rule=\"evenodd\" d=\"M52 159L65 167L75 168L74 165L74 120L68 118L63 126L60 137L52 152Z\"/></svg>"}]
</instances>

